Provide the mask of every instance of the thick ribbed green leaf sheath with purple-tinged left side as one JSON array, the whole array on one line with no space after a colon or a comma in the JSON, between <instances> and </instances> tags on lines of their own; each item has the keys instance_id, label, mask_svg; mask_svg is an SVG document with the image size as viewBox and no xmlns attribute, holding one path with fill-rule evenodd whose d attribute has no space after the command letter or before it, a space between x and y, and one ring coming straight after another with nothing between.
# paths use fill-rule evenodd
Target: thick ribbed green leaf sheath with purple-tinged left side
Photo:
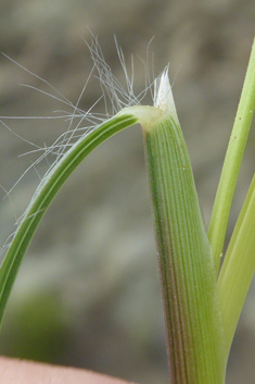
<instances>
[{"instance_id":1,"label":"thick ribbed green leaf sheath with purple-tinged left side","mask_svg":"<svg viewBox=\"0 0 255 384\"><path fill-rule=\"evenodd\" d=\"M213 255L178 122L143 128L173 384L224 382Z\"/></svg>"}]
</instances>

